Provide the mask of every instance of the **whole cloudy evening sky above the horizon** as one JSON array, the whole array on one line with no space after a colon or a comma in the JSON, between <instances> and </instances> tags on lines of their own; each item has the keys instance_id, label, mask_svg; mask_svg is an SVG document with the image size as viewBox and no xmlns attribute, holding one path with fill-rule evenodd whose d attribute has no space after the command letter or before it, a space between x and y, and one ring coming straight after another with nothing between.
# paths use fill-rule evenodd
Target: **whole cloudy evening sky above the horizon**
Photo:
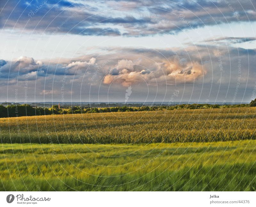
<instances>
[{"instance_id":1,"label":"whole cloudy evening sky above the horizon","mask_svg":"<svg viewBox=\"0 0 256 207\"><path fill-rule=\"evenodd\" d=\"M0 102L250 102L255 6L1 0Z\"/></svg>"}]
</instances>

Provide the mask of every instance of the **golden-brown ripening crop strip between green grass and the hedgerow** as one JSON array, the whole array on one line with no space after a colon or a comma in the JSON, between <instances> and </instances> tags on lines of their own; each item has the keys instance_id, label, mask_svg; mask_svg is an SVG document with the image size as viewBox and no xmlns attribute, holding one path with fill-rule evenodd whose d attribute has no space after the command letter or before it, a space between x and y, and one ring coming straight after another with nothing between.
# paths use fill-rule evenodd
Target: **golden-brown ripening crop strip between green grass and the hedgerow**
<instances>
[{"instance_id":1,"label":"golden-brown ripening crop strip between green grass and the hedgerow","mask_svg":"<svg viewBox=\"0 0 256 207\"><path fill-rule=\"evenodd\" d=\"M0 119L2 143L171 143L255 139L255 107Z\"/></svg>"}]
</instances>

